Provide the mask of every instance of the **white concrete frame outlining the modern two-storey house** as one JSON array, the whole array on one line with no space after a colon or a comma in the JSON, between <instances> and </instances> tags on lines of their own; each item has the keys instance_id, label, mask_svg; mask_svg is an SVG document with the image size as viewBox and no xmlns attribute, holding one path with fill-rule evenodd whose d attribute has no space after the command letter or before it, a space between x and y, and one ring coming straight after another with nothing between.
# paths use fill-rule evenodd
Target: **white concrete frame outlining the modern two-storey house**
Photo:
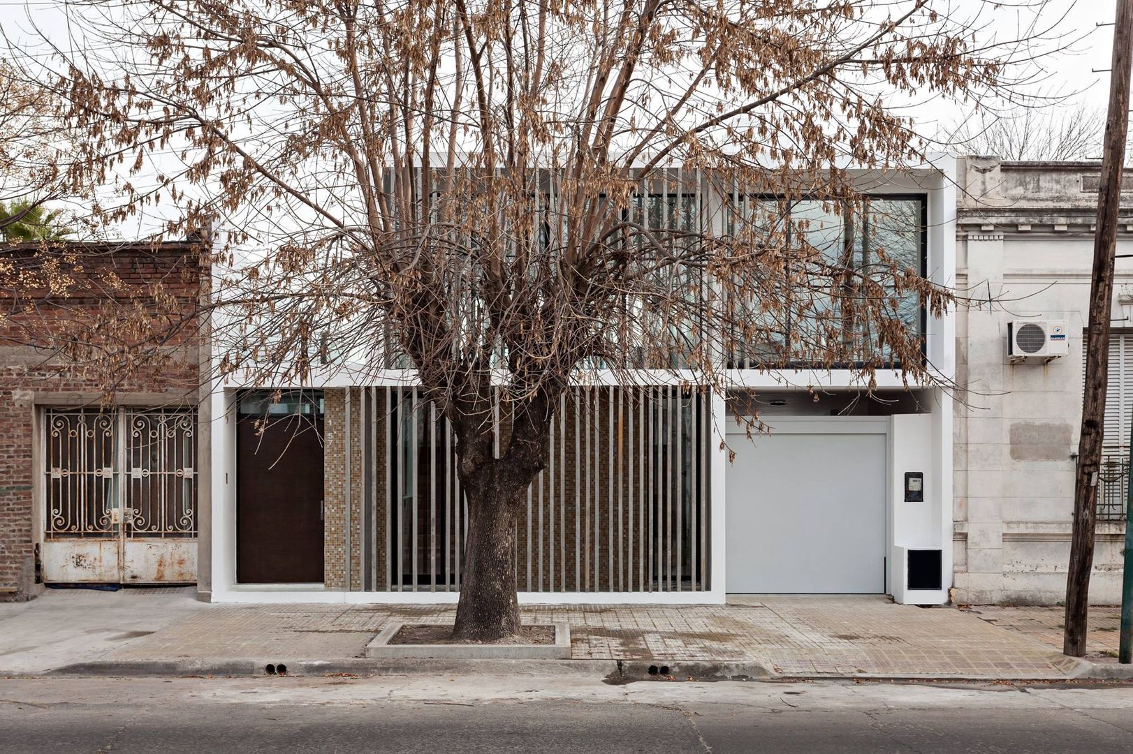
<instances>
[{"instance_id":1,"label":"white concrete frame outlining the modern two-storey house","mask_svg":"<svg viewBox=\"0 0 1133 754\"><path fill-rule=\"evenodd\" d=\"M926 234L927 274L935 283L946 286L955 284L955 219L956 182L955 160L951 156L934 156L930 163L909 171L903 178L883 175L878 172L861 172L863 183L870 183L871 194L923 194L927 199L928 229ZM717 213L719 214L719 213ZM721 221L722 222L722 221ZM943 317L927 323L926 354L930 370L943 383L948 384L955 375L955 312L949 309ZM212 354L215 359L215 354ZM215 365L214 365L215 366ZM215 374L215 369L213 370ZM849 370L828 372L813 370L782 370L761 372L752 369L727 370L727 379L738 388L857 388L860 387ZM630 384L666 385L681 384L695 378L690 370L649 372ZM459 592L380 592L327 589L322 584L256 584L241 585L236 582L236 413L230 405L237 389L241 387L283 388L306 387L310 389L341 388L374 385L409 386L416 383L416 375L407 369L361 370L339 366L316 374L305 385L272 384L254 385L239 375L225 379L214 379L207 397L211 430L211 521L212 547L210 557L211 591L202 592L203 598L213 602L305 602L305 603L455 603ZM581 384L617 385L621 382L612 370L594 370L586 374ZM902 372L877 374L877 388L917 387L908 384ZM931 412L931 440L936 469L936 494L940 497L940 526L943 540L942 571L947 594L952 584L952 397L942 388L934 389L937 405ZM577 605L577 603L628 603L628 605L722 605L725 601L725 485L727 478L726 448L722 447L721 430L727 427L725 399L713 397L713 443L708 448L710 462L710 559L709 586L706 591L656 591L656 592L520 592L522 605ZM892 431L889 432L892 445ZM947 470L947 473L945 473ZM891 508L893 499L891 485ZM887 521L892 509L887 512ZM892 523L887 537L893 543ZM202 532L207 531L202 529ZM208 551L205 548L203 551ZM896 584L893 576L893 558L889 559L887 588L895 597L904 596L903 584ZM925 596L925 603L943 602L939 594ZM900 600L898 600L900 601ZM920 600L918 600L920 601Z\"/></svg>"}]
</instances>

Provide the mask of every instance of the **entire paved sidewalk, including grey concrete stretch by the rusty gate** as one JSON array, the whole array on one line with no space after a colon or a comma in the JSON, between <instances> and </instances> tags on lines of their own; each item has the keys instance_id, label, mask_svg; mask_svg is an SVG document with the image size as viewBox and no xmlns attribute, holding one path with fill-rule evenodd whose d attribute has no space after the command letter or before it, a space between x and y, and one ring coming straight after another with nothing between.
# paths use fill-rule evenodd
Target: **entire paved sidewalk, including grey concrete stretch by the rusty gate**
<instances>
[{"instance_id":1,"label":"entire paved sidewalk, including grey concrete stretch by the rusty gate","mask_svg":"<svg viewBox=\"0 0 1133 754\"><path fill-rule=\"evenodd\" d=\"M451 607L203 605L191 590L49 592L0 605L0 670L44 672L90 661L350 661L390 620L452 615ZM747 662L778 675L832 677L1058 679L1082 668L1003 619L881 597L523 608L525 622L571 625L574 660Z\"/></svg>"}]
</instances>

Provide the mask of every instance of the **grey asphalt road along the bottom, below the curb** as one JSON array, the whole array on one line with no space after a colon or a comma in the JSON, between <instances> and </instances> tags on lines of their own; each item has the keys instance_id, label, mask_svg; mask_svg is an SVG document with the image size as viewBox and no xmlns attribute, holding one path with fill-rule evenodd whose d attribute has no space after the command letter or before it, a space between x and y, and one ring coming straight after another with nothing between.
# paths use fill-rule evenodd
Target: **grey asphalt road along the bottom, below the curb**
<instances>
[{"instance_id":1,"label":"grey asphalt road along the bottom, below the curb","mask_svg":"<svg viewBox=\"0 0 1133 754\"><path fill-rule=\"evenodd\" d=\"M1133 687L0 680L0 752L1133 752Z\"/></svg>"}]
</instances>

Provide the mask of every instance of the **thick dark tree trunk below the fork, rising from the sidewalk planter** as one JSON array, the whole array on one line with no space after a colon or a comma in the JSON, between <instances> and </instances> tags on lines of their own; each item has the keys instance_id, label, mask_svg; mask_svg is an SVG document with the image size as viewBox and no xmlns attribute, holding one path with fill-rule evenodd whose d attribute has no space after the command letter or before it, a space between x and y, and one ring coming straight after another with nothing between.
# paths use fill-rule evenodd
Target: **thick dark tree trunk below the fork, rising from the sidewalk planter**
<instances>
[{"instance_id":1,"label":"thick dark tree trunk below the fork, rising from the sidewalk planter","mask_svg":"<svg viewBox=\"0 0 1133 754\"><path fill-rule=\"evenodd\" d=\"M491 642L519 633L516 594L516 521L520 491L510 481L469 494L468 540L452 635Z\"/></svg>"}]
</instances>

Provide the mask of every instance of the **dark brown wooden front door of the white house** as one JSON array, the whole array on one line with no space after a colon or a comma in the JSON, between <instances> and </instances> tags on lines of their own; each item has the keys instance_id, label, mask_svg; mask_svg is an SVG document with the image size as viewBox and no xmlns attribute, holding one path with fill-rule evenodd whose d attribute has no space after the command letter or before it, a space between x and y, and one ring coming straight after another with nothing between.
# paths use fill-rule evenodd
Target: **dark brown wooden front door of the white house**
<instances>
[{"instance_id":1,"label":"dark brown wooden front door of the white house","mask_svg":"<svg viewBox=\"0 0 1133 754\"><path fill-rule=\"evenodd\" d=\"M245 399L237 421L236 580L323 583L323 414ZM266 410L264 410L266 409Z\"/></svg>"}]
</instances>

